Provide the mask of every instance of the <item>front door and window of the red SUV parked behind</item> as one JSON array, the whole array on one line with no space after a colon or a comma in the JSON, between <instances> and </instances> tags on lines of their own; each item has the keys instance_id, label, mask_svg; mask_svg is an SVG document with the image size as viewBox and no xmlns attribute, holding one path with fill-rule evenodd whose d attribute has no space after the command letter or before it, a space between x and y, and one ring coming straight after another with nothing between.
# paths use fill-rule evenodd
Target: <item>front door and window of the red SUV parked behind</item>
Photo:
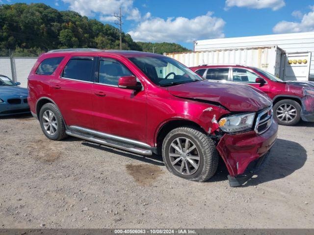
<instances>
[{"instance_id":1,"label":"front door and window of the red SUV parked behind","mask_svg":"<svg viewBox=\"0 0 314 235\"><path fill-rule=\"evenodd\" d=\"M243 68L233 68L231 72L231 81L248 84L261 90L266 94L269 94L269 84L267 83L267 81L264 84L256 83L255 80L258 77L260 76L256 74L254 71Z\"/></svg>"}]
</instances>

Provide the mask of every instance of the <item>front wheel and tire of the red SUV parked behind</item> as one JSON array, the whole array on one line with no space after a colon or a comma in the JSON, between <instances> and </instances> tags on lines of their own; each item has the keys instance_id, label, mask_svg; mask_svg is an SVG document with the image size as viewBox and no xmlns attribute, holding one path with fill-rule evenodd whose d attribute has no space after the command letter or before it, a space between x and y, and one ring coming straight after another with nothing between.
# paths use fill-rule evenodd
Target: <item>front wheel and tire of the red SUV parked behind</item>
<instances>
[{"instance_id":1,"label":"front wheel and tire of the red SUV parked behind","mask_svg":"<svg viewBox=\"0 0 314 235\"><path fill-rule=\"evenodd\" d=\"M301 119L301 106L292 99L278 101L274 105L273 111L274 118L280 125L294 126Z\"/></svg>"}]
</instances>

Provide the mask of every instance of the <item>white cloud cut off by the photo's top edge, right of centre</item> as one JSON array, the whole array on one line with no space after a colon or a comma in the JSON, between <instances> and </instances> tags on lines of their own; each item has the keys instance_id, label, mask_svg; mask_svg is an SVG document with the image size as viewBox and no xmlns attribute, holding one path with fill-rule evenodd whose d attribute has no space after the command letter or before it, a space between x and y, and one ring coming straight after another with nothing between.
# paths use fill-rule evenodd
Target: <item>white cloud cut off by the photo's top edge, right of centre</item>
<instances>
[{"instance_id":1,"label":"white cloud cut off by the photo's top edge, right of centre","mask_svg":"<svg viewBox=\"0 0 314 235\"><path fill-rule=\"evenodd\" d=\"M276 11L285 5L285 0L226 0L225 9L237 6L254 9L271 8L273 11Z\"/></svg>"}]
</instances>

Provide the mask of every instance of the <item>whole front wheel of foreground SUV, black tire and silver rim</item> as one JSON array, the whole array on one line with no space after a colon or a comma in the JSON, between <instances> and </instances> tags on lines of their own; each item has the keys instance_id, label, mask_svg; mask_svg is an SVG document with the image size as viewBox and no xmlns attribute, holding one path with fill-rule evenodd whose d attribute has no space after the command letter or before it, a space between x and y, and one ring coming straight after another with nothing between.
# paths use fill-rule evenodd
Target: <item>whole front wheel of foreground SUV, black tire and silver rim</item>
<instances>
[{"instance_id":1,"label":"whole front wheel of foreground SUV, black tire and silver rim","mask_svg":"<svg viewBox=\"0 0 314 235\"><path fill-rule=\"evenodd\" d=\"M185 151L186 139L188 139L188 149ZM181 155L178 149L181 150ZM190 149L193 150L188 152ZM197 160L197 155L199 160ZM179 127L168 133L162 143L162 158L171 173L198 182L205 182L215 174L219 160L214 141L192 127ZM191 164L191 160L194 164Z\"/></svg>"}]
</instances>

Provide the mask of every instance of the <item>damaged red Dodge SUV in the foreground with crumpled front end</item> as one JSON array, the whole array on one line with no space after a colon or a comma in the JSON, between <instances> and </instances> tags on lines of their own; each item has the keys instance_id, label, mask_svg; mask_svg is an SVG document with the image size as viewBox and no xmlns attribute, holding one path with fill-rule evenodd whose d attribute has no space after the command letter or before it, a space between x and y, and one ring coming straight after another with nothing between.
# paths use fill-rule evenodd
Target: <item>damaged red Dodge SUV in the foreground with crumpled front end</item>
<instances>
[{"instance_id":1,"label":"damaged red Dodge SUV in the foreground with crumpled front end","mask_svg":"<svg viewBox=\"0 0 314 235\"><path fill-rule=\"evenodd\" d=\"M208 180L219 153L231 186L239 186L277 138L267 95L208 81L162 55L54 50L38 58L28 88L30 110L49 139L70 135L137 154L161 153L167 169L188 180Z\"/></svg>"}]
</instances>

